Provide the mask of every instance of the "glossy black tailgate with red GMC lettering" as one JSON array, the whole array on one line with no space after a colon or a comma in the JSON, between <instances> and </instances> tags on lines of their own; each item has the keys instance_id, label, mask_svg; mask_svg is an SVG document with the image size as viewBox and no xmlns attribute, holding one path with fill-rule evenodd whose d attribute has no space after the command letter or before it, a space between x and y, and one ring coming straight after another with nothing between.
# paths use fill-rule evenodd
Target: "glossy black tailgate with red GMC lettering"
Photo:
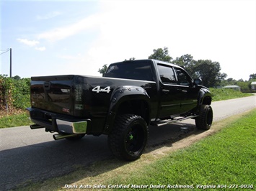
<instances>
[{"instance_id":1,"label":"glossy black tailgate with red GMC lettering","mask_svg":"<svg viewBox=\"0 0 256 191\"><path fill-rule=\"evenodd\" d=\"M32 77L31 106L46 111L72 114L74 75Z\"/></svg>"}]
</instances>

